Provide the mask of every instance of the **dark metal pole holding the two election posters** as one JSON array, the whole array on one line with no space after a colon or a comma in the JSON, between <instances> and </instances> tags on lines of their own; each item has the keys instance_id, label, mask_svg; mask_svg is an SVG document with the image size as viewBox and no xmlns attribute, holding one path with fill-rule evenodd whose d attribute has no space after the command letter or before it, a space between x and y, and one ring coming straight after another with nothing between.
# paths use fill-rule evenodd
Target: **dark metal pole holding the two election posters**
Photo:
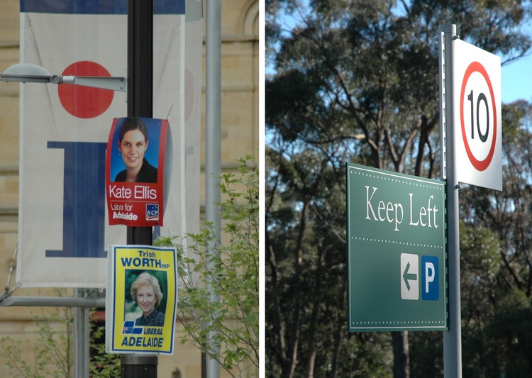
<instances>
[{"instance_id":1,"label":"dark metal pole holding the two election posters","mask_svg":"<svg viewBox=\"0 0 532 378\"><path fill-rule=\"evenodd\" d=\"M153 116L153 0L128 0L128 117ZM151 227L128 227L128 245L152 245ZM157 378L156 355L122 355L121 378Z\"/></svg>"}]
</instances>

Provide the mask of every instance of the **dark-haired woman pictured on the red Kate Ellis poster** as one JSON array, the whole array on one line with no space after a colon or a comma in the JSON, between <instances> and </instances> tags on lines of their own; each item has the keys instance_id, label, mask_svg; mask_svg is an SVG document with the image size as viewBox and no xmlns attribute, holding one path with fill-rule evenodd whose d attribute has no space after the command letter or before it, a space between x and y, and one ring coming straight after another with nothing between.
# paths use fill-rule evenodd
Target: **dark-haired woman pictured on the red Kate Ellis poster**
<instances>
[{"instance_id":1,"label":"dark-haired woman pictured on the red Kate Ellis poster","mask_svg":"<svg viewBox=\"0 0 532 378\"><path fill-rule=\"evenodd\" d=\"M157 168L144 157L148 149L148 130L140 118L126 118L118 137L118 150L126 169L115 182L157 182Z\"/></svg>"}]
</instances>

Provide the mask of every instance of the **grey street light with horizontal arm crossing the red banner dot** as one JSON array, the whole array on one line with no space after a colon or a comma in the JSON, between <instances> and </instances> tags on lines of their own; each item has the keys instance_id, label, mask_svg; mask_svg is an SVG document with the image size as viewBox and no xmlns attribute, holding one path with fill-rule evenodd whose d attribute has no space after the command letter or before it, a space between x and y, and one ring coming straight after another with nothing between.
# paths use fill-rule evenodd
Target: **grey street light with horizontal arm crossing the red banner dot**
<instances>
[{"instance_id":1,"label":"grey street light with horizontal arm crossing the red banner dot","mask_svg":"<svg viewBox=\"0 0 532 378\"><path fill-rule=\"evenodd\" d=\"M126 92L128 89L126 77L107 76L70 76L50 74L48 70L31 63L18 63L8 67L0 74L2 82L45 83L45 84L75 84L84 87L110 89L111 91Z\"/></svg>"}]
</instances>

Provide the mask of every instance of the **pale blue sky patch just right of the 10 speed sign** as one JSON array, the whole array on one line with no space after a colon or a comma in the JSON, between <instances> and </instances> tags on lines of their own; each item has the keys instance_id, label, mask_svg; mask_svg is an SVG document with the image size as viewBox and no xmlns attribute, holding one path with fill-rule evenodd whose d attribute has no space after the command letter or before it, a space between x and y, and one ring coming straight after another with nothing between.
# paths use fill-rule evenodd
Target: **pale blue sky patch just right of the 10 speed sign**
<instances>
[{"instance_id":1,"label":"pale blue sky patch just right of the 10 speed sign","mask_svg":"<svg viewBox=\"0 0 532 378\"><path fill-rule=\"evenodd\" d=\"M501 101L518 99L532 102L532 55L501 67Z\"/></svg>"}]
</instances>

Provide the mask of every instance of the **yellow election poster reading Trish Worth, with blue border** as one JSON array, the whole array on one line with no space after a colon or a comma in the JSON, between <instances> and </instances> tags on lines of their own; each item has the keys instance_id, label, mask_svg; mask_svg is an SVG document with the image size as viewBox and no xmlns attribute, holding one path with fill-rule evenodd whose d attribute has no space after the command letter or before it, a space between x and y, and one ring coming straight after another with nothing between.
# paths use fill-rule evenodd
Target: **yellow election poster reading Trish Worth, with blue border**
<instances>
[{"instance_id":1,"label":"yellow election poster reading Trish Worth, with blue border","mask_svg":"<svg viewBox=\"0 0 532 378\"><path fill-rule=\"evenodd\" d=\"M113 245L109 250L106 352L173 355L175 248Z\"/></svg>"}]
</instances>

